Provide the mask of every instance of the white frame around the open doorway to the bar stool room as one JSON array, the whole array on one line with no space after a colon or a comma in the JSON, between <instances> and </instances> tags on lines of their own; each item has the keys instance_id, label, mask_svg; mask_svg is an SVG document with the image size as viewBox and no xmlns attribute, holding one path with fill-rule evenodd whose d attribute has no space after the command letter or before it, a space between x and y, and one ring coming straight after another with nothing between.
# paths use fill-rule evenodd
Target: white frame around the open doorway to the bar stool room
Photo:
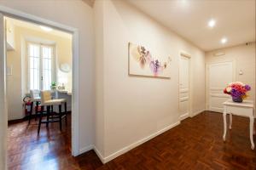
<instances>
[{"instance_id":1,"label":"white frame around the open doorway to the bar stool room","mask_svg":"<svg viewBox=\"0 0 256 170\"><path fill-rule=\"evenodd\" d=\"M36 15L32 14L26 14L24 12L21 12L19 10L13 9L13 8L7 8L4 6L0 5L0 16L3 15L10 17L10 18L15 18L17 20L24 20L28 22L32 22L34 24L38 25L44 25L44 26L49 26L54 29L60 30L60 31L66 31L73 36L73 42L72 42L72 48L73 48L73 91L72 91L72 155L73 156L78 156L79 155L79 30L77 28L73 28L71 26L66 26L61 23L52 21L52 20L47 20L41 17L38 17ZM0 24L1 26L2 24ZM0 33L1 34L1 33ZM5 35L0 35L0 48L3 47L3 44L5 43ZM3 39L4 38L4 39ZM5 50L4 50L5 52ZM0 70L4 71L3 75L3 80L5 80L5 60L6 60L6 55L0 56ZM2 62L4 61L4 62ZM2 75L1 75L2 76ZM0 81L0 90L3 90L3 95L0 93L0 101L4 101L6 103L6 82ZM5 104L6 105L6 104ZM7 143L7 107L0 107L0 120L6 120L6 123L3 123L0 125L2 129L4 129L5 132L3 132L3 147L6 146ZM1 131L0 131L1 135ZM1 136L0 136L1 138ZM2 138L1 138L2 139ZM0 142L1 144L1 142ZM0 150L1 151L1 150ZM3 169L7 168L7 153L3 154ZM2 161L2 160L1 160ZM0 162L1 162L0 161ZM4 163L5 162L5 163ZM1 169L1 168L0 168Z\"/></svg>"}]
</instances>

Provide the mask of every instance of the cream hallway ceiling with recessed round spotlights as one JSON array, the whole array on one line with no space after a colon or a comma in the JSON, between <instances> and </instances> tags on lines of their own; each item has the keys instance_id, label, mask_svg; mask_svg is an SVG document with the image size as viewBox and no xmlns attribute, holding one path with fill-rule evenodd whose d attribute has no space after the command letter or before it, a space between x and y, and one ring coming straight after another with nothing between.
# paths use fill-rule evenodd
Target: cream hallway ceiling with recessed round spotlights
<instances>
[{"instance_id":1,"label":"cream hallway ceiling with recessed round spotlights","mask_svg":"<svg viewBox=\"0 0 256 170\"><path fill-rule=\"evenodd\" d=\"M255 42L255 0L127 1L205 51ZM221 44L222 37L228 42Z\"/></svg>"}]
</instances>

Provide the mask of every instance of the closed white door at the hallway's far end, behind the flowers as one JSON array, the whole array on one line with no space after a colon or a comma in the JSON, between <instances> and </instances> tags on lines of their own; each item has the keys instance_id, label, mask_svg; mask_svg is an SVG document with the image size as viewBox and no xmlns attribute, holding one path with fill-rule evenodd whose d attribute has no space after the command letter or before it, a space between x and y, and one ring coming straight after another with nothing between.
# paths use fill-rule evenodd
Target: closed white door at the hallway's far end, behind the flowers
<instances>
[{"instance_id":1,"label":"closed white door at the hallway's far end, behind the flowers","mask_svg":"<svg viewBox=\"0 0 256 170\"><path fill-rule=\"evenodd\" d=\"M232 62L208 65L209 111L223 112L223 103L230 98L223 90L230 82L233 82Z\"/></svg>"}]
</instances>

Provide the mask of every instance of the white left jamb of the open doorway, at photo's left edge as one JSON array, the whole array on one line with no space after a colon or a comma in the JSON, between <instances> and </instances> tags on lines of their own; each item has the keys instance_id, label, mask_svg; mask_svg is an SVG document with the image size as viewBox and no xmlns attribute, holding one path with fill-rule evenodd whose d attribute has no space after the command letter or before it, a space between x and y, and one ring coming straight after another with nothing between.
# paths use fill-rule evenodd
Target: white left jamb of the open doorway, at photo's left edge
<instances>
[{"instance_id":1,"label":"white left jamb of the open doorway, at photo's left edge","mask_svg":"<svg viewBox=\"0 0 256 170\"><path fill-rule=\"evenodd\" d=\"M7 169L6 59L3 14L0 13L0 169Z\"/></svg>"}]
</instances>

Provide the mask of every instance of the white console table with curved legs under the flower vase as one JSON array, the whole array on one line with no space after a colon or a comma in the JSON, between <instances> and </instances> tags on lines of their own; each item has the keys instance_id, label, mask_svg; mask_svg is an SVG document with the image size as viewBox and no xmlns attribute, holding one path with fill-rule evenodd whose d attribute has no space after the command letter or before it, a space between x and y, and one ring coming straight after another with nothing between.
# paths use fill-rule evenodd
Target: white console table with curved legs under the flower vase
<instances>
[{"instance_id":1,"label":"white console table with curved legs under the flower vase","mask_svg":"<svg viewBox=\"0 0 256 170\"><path fill-rule=\"evenodd\" d=\"M247 116L250 118L250 140L251 140L251 149L254 150L254 143L253 143L253 101L251 100L244 100L242 103L233 102L231 99L225 101L224 103L224 135L223 139L226 140L226 133L227 133L227 120L226 115L230 114L230 129L232 127L232 114L237 116Z\"/></svg>"}]
</instances>

